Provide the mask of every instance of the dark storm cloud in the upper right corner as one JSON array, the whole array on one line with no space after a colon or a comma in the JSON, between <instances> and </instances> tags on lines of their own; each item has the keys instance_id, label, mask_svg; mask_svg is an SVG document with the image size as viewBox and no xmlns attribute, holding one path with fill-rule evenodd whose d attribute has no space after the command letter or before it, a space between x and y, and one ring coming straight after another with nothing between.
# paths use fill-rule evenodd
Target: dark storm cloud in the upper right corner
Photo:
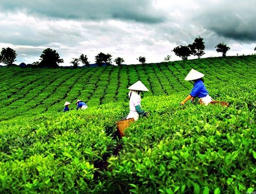
<instances>
[{"instance_id":1,"label":"dark storm cloud in the upper right corner","mask_svg":"<svg viewBox=\"0 0 256 194\"><path fill-rule=\"evenodd\" d=\"M256 41L256 1L220 1L206 5L194 17L207 30L237 41Z\"/></svg>"}]
</instances>

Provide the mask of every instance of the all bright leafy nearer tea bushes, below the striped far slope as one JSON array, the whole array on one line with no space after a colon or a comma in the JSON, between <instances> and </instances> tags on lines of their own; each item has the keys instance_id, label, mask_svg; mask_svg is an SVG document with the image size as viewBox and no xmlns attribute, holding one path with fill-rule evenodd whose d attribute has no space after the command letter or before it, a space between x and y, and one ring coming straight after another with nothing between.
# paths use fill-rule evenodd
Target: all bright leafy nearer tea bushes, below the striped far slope
<instances>
[{"instance_id":1,"label":"all bright leafy nearer tea bushes, below the striped far slope","mask_svg":"<svg viewBox=\"0 0 256 194\"><path fill-rule=\"evenodd\" d=\"M122 101L3 121L0 192L251 191L254 82L220 86L215 89L223 96L217 100L227 99L229 107L179 106L185 91L143 98L143 108L151 114L127 128L121 141L115 135L116 121L129 112Z\"/></svg>"}]
</instances>

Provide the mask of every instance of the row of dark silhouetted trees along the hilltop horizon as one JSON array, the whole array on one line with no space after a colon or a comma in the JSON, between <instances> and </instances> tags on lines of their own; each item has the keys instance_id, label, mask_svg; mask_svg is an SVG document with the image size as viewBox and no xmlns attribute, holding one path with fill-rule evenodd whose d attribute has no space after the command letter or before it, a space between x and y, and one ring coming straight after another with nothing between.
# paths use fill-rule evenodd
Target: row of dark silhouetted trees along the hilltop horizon
<instances>
[{"instance_id":1,"label":"row of dark silhouetted trees along the hilltop horizon","mask_svg":"<svg viewBox=\"0 0 256 194\"><path fill-rule=\"evenodd\" d=\"M226 44L219 43L215 46L216 51L218 53L222 53L222 56L225 57L228 50L230 50L230 47ZM200 59L205 54L205 45L203 38L200 36L195 38L194 42L192 44L186 45L180 45L175 47L172 52L175 53L178 57L181 57L182 60L187 60L187 58L190 55L197 56L198 59ZM254 51L256 51L256 46L254 48ZM2 48L2 51L0 53L0 62L7 65L7 67L10 67L11 64L13 64L14 61L16 61L17 53L12 48ZM60 63L63 63L63 59L60 58L59 54L52 50L52 48L46 48L44 51L42 51L42 54L40 55L40 62L36 61L33 62L33 66L38 67L50 67L55 68L58 67ZM146 58L140 56L137 58L137 60L144 64L146 62ZM165 61L170 60L170 55L167 55L167 57L164 58ZM90 67L90 62L88 61L87 55L81 54L79 58L72 58L72 61L70 62L73 64L73 68L77 68L79 63L82 63L83 66ZM112 55L111 54L104 54L99 53L97 56L95 56L95 62L100 67L103 64L105 65L112 65ZM124 62L124 59L121 57L117 57L114 62L117 65L122 65Z\"/></svg>"}]
</instances>

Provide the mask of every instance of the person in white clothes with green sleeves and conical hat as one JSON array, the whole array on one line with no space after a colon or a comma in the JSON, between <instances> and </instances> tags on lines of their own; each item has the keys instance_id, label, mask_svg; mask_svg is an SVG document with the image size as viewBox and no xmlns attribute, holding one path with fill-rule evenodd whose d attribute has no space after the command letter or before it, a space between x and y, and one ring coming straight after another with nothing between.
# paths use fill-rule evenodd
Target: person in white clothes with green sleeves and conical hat
<instances>
[{"instance_id":1,"label":"person in white clothes with green sleeves and conical hat","mask_svg":"<svg viewBox=\"0 0 256 194\"><path fill-rule=\"evenodd\" d=\"M134 120L137 120L139 118L139 115L146 116L148 112L145 112L142 110L140 102L141 97L140 93L142 91L149 91L146 86L141 81L136 82L132 86L130 86L128 89L130 89L130 92L128 94L130 102L130 113L124 117L124 119L134 118Z\"/></svg>"}]
</instances>

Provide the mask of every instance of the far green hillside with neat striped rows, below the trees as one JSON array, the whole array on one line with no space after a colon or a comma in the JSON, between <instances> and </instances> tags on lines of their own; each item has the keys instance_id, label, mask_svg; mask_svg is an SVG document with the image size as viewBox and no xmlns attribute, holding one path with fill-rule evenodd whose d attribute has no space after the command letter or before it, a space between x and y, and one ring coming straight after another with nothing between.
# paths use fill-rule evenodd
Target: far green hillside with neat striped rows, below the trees
<instances>
[{"instance_id":1,"label":"far green hillside with neat striped rows, below the trees","mask_svg":"<svg viewBox=\"0 0 256 194\"><path fill-rule=\"evenodd\" d=\"M14 116L59 112L65 101L81 99L88 106L127 101L126 89L141 80L150 92L144 96L188 93L184 77L191 68L205 74L213 98L223 83L255 79L255 56L207 58L158 64L84 69L0 68L0 120Z\"/></svg>"}]
</instances>

